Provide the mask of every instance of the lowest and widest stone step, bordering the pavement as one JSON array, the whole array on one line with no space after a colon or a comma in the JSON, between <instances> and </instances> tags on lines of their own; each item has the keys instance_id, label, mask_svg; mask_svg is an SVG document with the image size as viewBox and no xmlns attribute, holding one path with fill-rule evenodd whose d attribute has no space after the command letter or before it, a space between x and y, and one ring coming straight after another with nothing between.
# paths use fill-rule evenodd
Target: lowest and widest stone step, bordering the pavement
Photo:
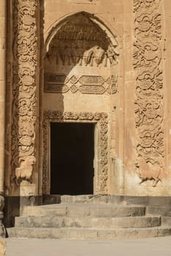
<instances>
[{"instance_id":1,"label":"lowest and widest stone step, bordering the pavement","mask_svg":"<svg viewBox=\"0 0 171 256\"><path fill-rule=\"evenodd\" d=\"M43 228L11 227L7 228L9 237L15 238L58 238L58 239L113 239L113 238L150 238L170 236L170 227L147 228Z\"/></svg>"}]
</instances>

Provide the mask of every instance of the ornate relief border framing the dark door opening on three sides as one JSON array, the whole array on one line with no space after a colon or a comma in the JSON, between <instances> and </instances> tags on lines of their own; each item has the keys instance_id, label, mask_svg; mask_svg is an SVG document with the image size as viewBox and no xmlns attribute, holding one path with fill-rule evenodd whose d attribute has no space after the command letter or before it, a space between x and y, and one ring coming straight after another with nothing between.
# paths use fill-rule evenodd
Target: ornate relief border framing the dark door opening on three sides
<instances>
[{"instance_id":1,"label":"ornate relief border framing the dark door opening on three sides","mask_svg":"<svg viewBox=\"0 0 171 256\"><path fill-rule=\"evenodd\" d=\"M60 111L45 111L43 121L43 173L42 173L42 192L44 195L50 194L50 181L48 170L49 152L48 142L50 140L49 129L50 122L68 122L68 121L87 121L99 124L99 167L98 167L98 182L99 187L95 188L100 194L107 194L107 114L106 113L91 113L91 112L60 112Z\"/></svg>"}]
</instances>

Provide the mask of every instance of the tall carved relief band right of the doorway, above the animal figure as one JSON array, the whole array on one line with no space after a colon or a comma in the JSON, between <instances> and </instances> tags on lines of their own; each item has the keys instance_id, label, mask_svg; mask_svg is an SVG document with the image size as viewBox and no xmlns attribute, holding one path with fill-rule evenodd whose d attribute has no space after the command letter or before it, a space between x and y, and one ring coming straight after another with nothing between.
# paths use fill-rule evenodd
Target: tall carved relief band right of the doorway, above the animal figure
<instances>
[{"instance_id":1,"label":"tall carved relief band right of the doorway, above the animal figure","mask_svg":"<svg viewBox=\"0 0 171 256\"><path fill-rule=\"evenodd\" d=\"M160 0L134 0L137 173L141 182L164 176L163 75Z\"/></svg>"}]
</instances>

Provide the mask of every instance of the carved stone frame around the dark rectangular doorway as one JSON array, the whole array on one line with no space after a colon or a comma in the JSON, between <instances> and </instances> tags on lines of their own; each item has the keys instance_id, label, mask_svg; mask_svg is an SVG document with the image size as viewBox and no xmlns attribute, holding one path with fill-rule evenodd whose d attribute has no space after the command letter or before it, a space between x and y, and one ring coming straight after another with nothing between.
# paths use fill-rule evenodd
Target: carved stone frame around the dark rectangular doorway
<instances>
[{"instance_id":1,"label":"carved stone frame around the dark rectangular doorway","mask_svg":"<svg viewBox=\"0 0 171 256\"><path fill-rule=\"evenodd\" d=\"M50 195L50 123L75 122L96 124L94 146L94 194L107 194L107 113L48 110L43 118L42 195Z\"/></svg>"}]
</instances>

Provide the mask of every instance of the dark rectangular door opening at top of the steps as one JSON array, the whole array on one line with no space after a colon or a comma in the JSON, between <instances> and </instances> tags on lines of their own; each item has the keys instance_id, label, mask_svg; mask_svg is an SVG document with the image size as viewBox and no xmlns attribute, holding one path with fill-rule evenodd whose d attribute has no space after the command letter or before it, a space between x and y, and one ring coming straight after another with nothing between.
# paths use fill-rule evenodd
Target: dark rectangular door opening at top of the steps
<instances>
[{"instance_id":1,"label":"dark rectangular door opening at top of the steps","mask_svg":"<svg viewBox=\"0 0 171 256\"><path fill-rule=\"evenodd\" d=\"M50 193L94 194L94 124L50 124Z\"/></svg>"}]
</instances>

